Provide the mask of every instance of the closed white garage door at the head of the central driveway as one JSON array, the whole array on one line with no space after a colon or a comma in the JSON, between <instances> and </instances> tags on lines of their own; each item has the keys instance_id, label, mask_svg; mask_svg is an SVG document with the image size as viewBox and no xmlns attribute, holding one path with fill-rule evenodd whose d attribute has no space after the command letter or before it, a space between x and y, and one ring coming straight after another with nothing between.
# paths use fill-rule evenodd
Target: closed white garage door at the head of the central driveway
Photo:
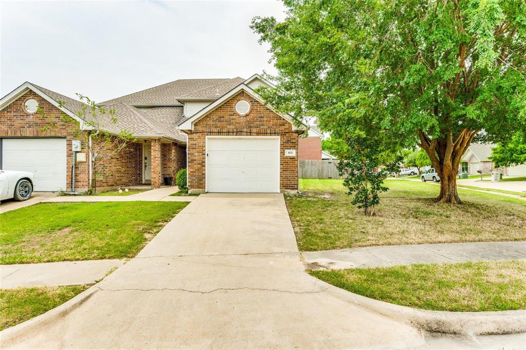
<instances>
[{"instance_id":1,"label":"closed white garage door at the head of the central driveway","mask_svg":"<svg viewBox=\"0 0 526 350\"><path fill-rule=\"evenodd\" d=\"M279 192L279 138L207 138L208 192Z\"/></svg>"}]
</instances>

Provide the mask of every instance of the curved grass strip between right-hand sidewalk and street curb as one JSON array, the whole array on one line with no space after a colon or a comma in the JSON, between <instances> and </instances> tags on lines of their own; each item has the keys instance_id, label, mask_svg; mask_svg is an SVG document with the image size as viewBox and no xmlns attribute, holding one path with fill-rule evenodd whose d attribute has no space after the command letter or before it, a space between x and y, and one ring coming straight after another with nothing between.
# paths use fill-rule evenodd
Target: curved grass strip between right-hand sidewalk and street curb
<instances>
[{"instance_id":1,"label":"curved grass strip between right-hand sidewalk and street curb","mask_svg":"<svg viewBox=\"0 0 526 350\"><path fill-rule=\"evenodd\" d=\"M439 311L526 308L526 261L416 264L331 271L312 276L388 303Z\"/></svg>"}]
</instances>

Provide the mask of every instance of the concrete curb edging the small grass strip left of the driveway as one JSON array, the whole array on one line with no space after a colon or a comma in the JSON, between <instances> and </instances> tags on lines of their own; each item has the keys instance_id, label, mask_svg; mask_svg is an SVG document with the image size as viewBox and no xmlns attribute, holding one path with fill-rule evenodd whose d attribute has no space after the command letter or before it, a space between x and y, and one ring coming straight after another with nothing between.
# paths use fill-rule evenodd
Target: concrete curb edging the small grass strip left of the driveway
<instances>
[{"instance_id":1,"label":"concrete curb edging the small grass strip left of the driveway","mask_svg":"<svg viewBox=\"0 0 526 350\"><path fill-rule=\"evenodd\" d=\"M96 286L96 284L92 285L87 290L75 295L73 298L71 298L64 304L60 304L57 307L52 308L51 310L48 310L41 315L35 316L25 322L19 323L13 327L9 327L3 331L0 331L2 348L7 347L8 343L11 343L15 340L19 341L21 337L25 338L31 336L31 331L36 327L46 326L49 323L57 320L58 318L65 317L68 313L72 312L77 307L88 301L89 298L92 297L93 294L95 294L97 291L99 291L99 289Z\"/></svg>"}]
</instances>

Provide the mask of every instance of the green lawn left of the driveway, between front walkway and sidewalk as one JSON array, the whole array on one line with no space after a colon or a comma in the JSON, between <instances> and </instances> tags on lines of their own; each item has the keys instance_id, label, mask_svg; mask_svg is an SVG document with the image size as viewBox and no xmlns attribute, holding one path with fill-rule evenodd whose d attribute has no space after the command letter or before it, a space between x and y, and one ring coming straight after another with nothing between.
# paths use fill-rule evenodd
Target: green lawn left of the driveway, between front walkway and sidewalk
<instances>
[{"instance_id":1,"label":"green lawn left of the driveway, between front walkway and sidewalk","mask_svg":"<svg viewBox=\"0 0 526 350\"><path fill-rule=\"evenodd\" d=\"M0 263L131 258L188 202L39 203L0 214Z\"/></svg>"}]
</instances>

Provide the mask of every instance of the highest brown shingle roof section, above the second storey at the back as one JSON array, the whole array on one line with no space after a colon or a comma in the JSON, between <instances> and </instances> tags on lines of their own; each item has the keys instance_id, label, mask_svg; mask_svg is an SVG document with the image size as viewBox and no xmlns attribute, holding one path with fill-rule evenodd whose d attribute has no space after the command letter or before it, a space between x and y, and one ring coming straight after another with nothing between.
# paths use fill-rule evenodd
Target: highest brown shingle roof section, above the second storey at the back
<instances>
[{"instance_id":1,"label":"highest brown shingle roof section, above the second storey at the back","mask_svg":"<svg viewBox=\"0 0 526 350\"><path fill-rule=\"evenodd\" d=\"M234 79L178 79L170 81L170 83L104 101L99 105L124 102L134 106L180 106L182 105L179 101L180 98L217 99L225 92L242 83L242 81L244 81L244 79L239 77ZM216 95L218 90L219 96Z\"/></svg>"}]
</instances>

